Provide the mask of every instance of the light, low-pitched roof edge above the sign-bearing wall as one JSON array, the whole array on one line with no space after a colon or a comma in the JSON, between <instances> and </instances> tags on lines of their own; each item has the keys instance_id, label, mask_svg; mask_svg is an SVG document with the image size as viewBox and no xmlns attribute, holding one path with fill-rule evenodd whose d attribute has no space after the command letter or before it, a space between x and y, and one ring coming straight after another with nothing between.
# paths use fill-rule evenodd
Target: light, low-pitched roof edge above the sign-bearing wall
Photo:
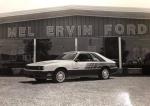
<instances>
[{"instance_id":1,"label":"light, low-pitched roof edge above the sign-bearing wall","mask_svg":"<svg viewBox=\"0 0 150 106\"><path fill-rule=\"evenodd\" d=\"M97 16L129 19L150 19L150 9L99 6L63 6L0 14L0 24L64 16Z\"/></svg>"}]
</instances>

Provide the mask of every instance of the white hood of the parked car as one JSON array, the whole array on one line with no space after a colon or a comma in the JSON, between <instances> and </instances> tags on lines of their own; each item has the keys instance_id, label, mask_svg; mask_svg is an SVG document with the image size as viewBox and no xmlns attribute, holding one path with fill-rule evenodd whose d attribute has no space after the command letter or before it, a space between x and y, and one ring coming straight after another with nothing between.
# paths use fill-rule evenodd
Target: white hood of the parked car
<instances>
[{"instance_id":1,"label":"white hood of the parked car","mask_svg":"<svg viewBox=\"0 0 150 106\"><path fill-rule=\"evenodd\" d=\"M28 66L45 66L50 64L61 64L61 63L70 63L73 60L48 60L48 61L41 61L36 63L30 63Z\"/></svg>"}]
</instances>

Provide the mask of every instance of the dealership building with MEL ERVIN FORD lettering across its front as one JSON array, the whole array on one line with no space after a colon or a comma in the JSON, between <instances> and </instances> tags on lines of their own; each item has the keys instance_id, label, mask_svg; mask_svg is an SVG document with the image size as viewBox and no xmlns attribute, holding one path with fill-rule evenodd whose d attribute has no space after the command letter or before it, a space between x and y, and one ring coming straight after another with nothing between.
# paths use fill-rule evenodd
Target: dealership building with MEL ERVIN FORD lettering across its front
<instances>
[{"instance_id":1,"label":"dealership building with MEL ERVIN FORD lettering across its front","mask_svg":"<svg viewBox=\"0 0 150 106\"><path fill-rule=\"evenodd\" d=\"M1 63L35 62L38 49L46 47L50 57L74 50L98 52L122 68L150 54L149 42L148 9L64 6L0 14ZM32 55L26 50L30 45Z\"/></svg>"}]
</instances>

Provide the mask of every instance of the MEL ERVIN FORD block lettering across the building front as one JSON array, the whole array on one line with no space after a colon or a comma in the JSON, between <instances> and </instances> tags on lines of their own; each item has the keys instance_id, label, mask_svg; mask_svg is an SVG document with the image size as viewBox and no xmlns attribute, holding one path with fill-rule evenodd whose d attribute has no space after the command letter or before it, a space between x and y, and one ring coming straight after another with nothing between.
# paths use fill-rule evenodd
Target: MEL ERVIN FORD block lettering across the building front
<instances>
[{"instance_id":1,"label":"MEL ERVIN FORD block lettering across the building front","mask_svg":"<svg viewBox=\"0 0 150 106\"><path fill-rule=\"evenodd\" d=\"M103 36L135 36L149 33L149 28L145 24L104 24L102 27ZM43 28L45 32L40 37L95 37L93 34L95 31L94 25L59 25L43 26ZM36 38L38 33L30 26L8 27L7 29L8 38Z\"/></svg>"}]
</instances>

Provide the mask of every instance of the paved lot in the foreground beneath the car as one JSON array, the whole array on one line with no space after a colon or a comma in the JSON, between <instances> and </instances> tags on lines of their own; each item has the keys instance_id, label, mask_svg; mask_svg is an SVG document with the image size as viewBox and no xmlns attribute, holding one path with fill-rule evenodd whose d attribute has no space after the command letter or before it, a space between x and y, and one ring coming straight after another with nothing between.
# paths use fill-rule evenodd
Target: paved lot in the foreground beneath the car
<instances>
[{"instance_id":1,"label":"paved lot in the foreground beneath the car","mask_svg":"<svg viewBox=\"0 0 150 106\"><path fill-rule=\"evenodd\" d=\"M73 79L55 84L0 77L1 106L150 106L150 76Z\"/></svg>"}]
</instances>

